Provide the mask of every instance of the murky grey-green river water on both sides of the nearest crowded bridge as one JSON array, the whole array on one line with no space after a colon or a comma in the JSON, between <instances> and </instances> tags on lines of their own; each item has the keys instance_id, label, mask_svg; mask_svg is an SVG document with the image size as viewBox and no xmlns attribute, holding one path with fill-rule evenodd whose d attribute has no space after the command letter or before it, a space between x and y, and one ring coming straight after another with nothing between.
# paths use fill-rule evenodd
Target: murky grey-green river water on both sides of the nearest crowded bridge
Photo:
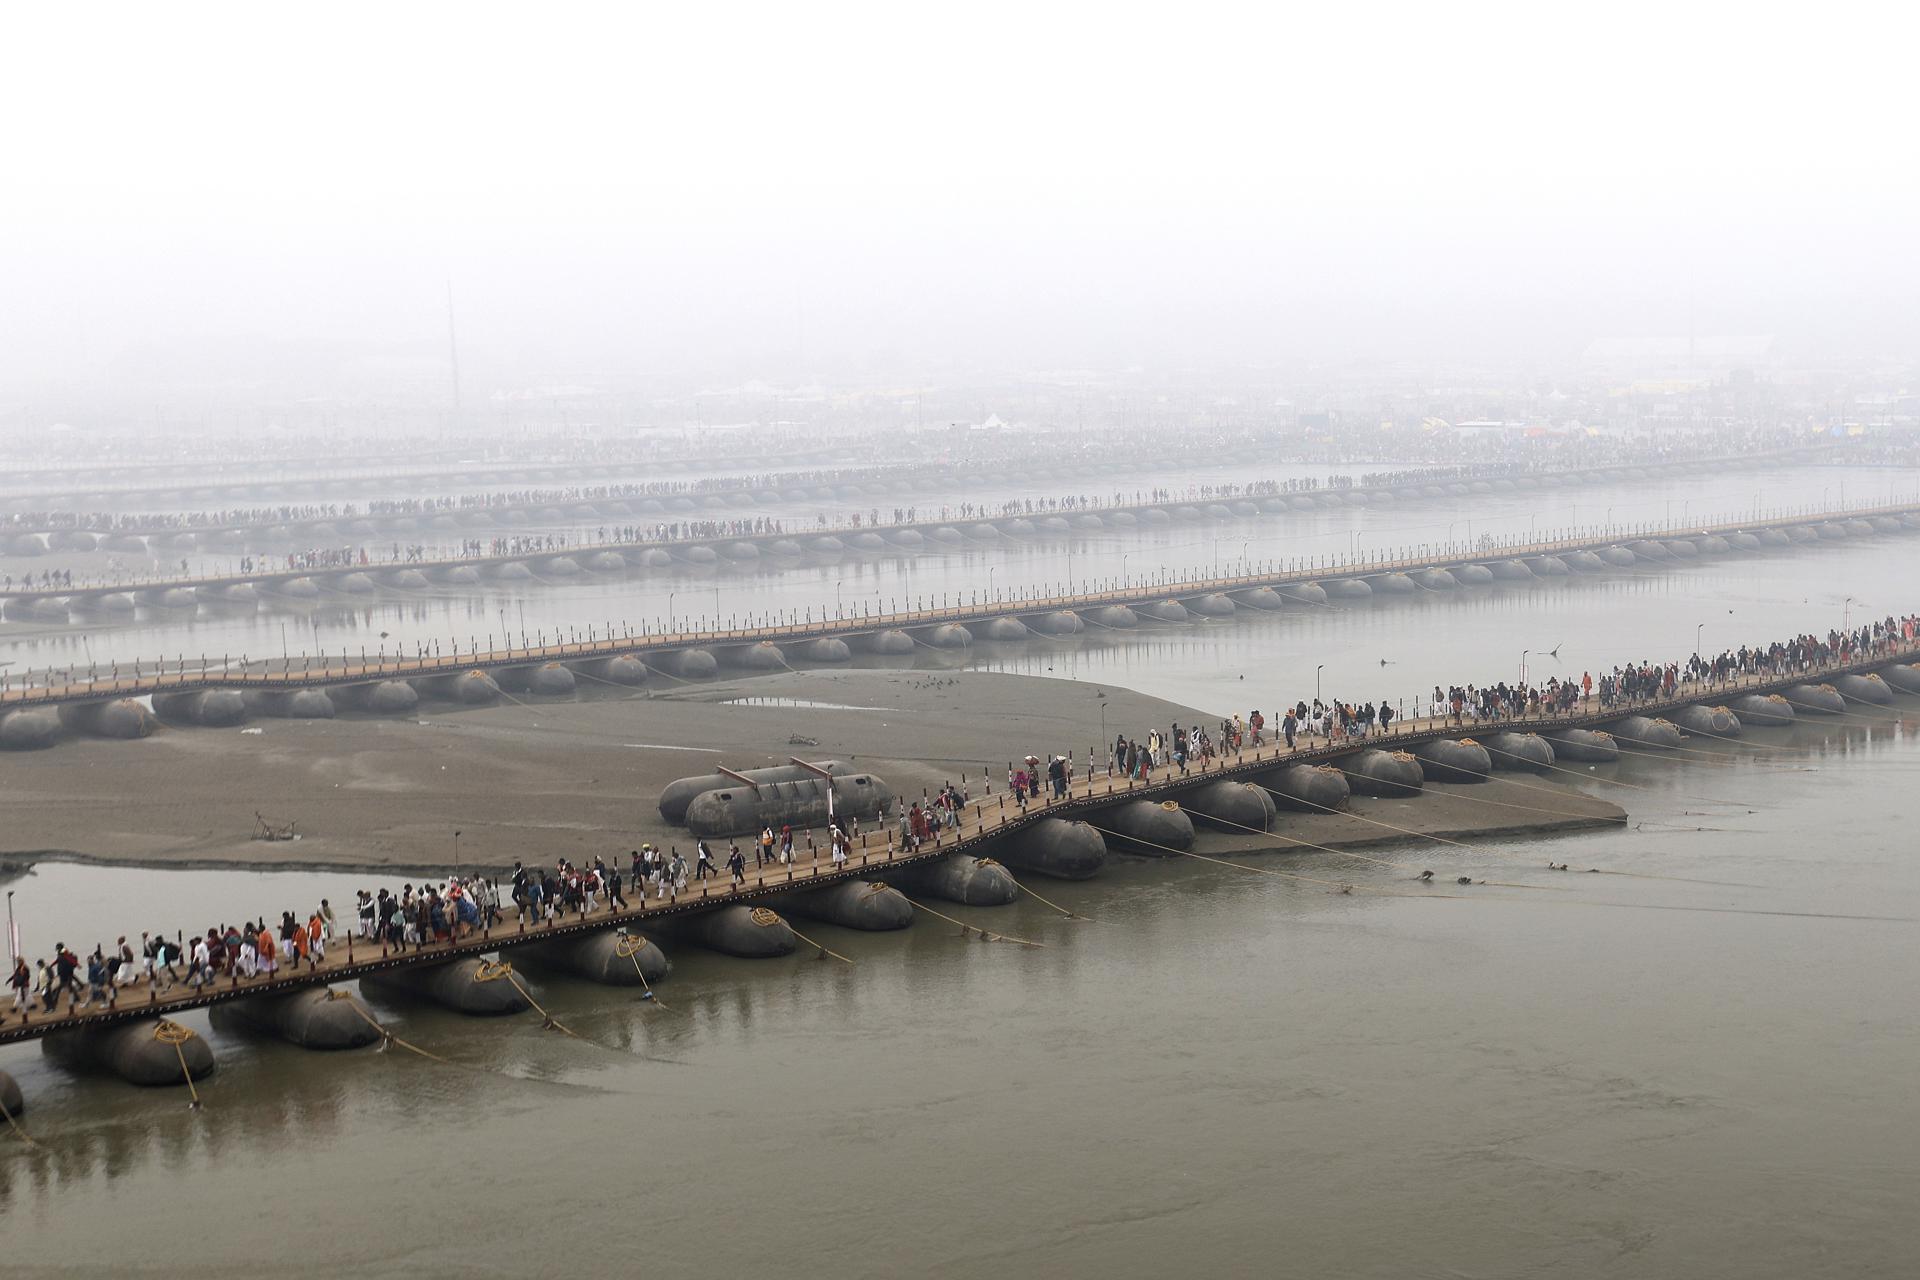
<instances>
[{"instance_id":1,"label":"murky grey-green river water on both sides of the nearest crowded bridge","mask_svg":"<svg viewBox=\"0 0 1920 1280\"><path fill-rule=\"evenodd\" d=\"M1056 553L1002 564L1020 555ZM1901 537L1870 539L973 662L1221 714L1311 697L1317 666L1329 695L1411 699L1523 660L1538 679L1676 656L1697 624L1718 649L1907 612L1907 557ZM524 599L559 618L591 589ZM424 610L424 629L457 604L386 608ZM818 683L837 700L831 672ZM307 1054L196 1015L221 1057L198 1113L177 1090L6 1050L48 1151L0 1146L0 1265L1905 1274L1920 1244L1916 708L1561 775L1622 804L1626 829L1371 854L1404 867L1242 858L1354 894L1116 860L1037 885L1096 923L1027 898L950 912L1044 950L939 921L818 925L854 965L672 946L672 1009L543 983L595 1044L532 1017L376 1006L449 1067ZM1457 889L1455 873L1530 889ZM361 883L48 864L6 887L33 950L90 944L102 919L338 906Z\"/></svg>"}]
</instances>

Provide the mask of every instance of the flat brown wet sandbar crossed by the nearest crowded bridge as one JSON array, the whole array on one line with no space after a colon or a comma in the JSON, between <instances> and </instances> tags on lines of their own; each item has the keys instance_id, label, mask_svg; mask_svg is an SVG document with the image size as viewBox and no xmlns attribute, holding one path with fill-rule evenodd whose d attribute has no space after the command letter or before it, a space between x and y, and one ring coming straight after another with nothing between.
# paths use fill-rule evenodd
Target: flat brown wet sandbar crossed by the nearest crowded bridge
<instances>
[{"instance_id":1,"label":"flat brown wet sandbar crossed by the nearest crowded bridge","mask_svg":"<svg viewBox=\"0 0 1920 1280\"><path fill-rule=\"evenodd\" d=\"M1102 697L1104 695L1104 697ZM756 704L735 704L755 699ZM766 704L797 699L831 706ZM259 720L240 729L163 729L138 743L69 741L0 760L0 858L157 867L396 871L455 862L591 858L639 841L687 842L655 800L714 766L841 758L902 796L966 777L1006 785L1027 752L1087 752L1106 733L1212 718L1114 685L985 672L831 670L755 676L630 697L490 708L422 704L417 720ZM791 735L816 745L789 745ZM1526 789L1551 787L1528 781ZM1342 848L1411 839L1538 833L1619 821L1620 810L1565 787L1492 781L1425 800L1359 800L1350 816L1284 814L1296 841ZM1507 806L1463 804L1469 793ZM1544 814L1538 810L1553 810ZM298 841L255 841L255 814ZM1254 835L1202 837L1202 852L1298 848Z\"/></svg>"}]
</instances>

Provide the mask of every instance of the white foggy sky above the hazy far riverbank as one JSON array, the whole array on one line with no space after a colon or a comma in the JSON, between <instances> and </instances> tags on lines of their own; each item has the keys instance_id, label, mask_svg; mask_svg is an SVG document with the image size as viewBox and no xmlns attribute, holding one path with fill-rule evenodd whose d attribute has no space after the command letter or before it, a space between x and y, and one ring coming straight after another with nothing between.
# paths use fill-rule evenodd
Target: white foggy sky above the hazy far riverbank
<instances>
[{"instance_id":1,"label":"white foggy sky above the hazy far riverbank","mask_svg":"<svg viewBox=\"0 0 1920 1280\"><path fill-rule=\"evenodd\" d=\"M699 12L693 12L699 10ZM1872 17L1672 6L15 8L0 384L1910 359Z\"/></svg>"}]
</instances>

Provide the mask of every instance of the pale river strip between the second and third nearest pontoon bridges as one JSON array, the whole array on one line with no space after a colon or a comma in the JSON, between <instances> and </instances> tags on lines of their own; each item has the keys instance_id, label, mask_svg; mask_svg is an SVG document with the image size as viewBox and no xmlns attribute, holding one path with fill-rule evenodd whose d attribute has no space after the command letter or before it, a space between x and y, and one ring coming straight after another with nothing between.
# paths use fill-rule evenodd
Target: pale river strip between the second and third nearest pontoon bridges
<instances>
[{"instance_id":1,"label":"pale river strip between the second and third nearest pontoon bridges","mask_svg":"<svg viewBox=\"0 0 1920 1280\"><path fill-rule=\"evenodd\" d=\"M1219 484L1227 472L1192 470L1185 484ZM1244 476L1240 476L1244 480ZM273 601L263 606L142 608L129 620L77 620L69 626L0 624L0 670L12 677L48 666L108 670L113 662L169 664L301 654L451 651L503 643L540 643L589 629L639 631L643 626L712 626L766 618L847 616L908 604L985 599L1018 601L1020 593L1144 583L1179 574L1252 572L1290 564L1327 564L1342 557L1413 555L1427 547L1463 549L1480 537L1542 537L1563 530L1630 530L1684 520L1738 520L1753 512L1822 503L1914 501L1920 472L1901 468L1816 468L1690 476L1663 484L1615 484L1551 489L1536 495L1484 495L1471 507L1444 503L1405 509L1332 509L1246 520L1171 524L1133 532L1073 533L1056 539L1000 539L958 551L922 555L849 555L803 564L693 566L582 576L534 583L484 581L482 587L386 591L371 599L344 595L315 603ZM1018 486L995 489L996 497ZM981 501L979 495L968 495ZM778 514L778 512L770 512ZM891 510L885 512L891 516ZM576 530L578 533L578 530ZM1880 543L1876 543L1880 545ZM1899 545L1893 539L1885 545ZM209 570L230 558L209 557ZM23 564L35 564L27 560ZM1795 597L1799 599L1799 597ZM1791 629L1791 628L1789 628ZM1546 639L1546 637L1542 637ZM1651 639L1651 637L1649 637ZM1672 645L1668 637L1661 645ZM1524 641L1523 641L1524 647ZM1386 654L1382 654L1386 656Z\"/></svg>"}]
</instances>

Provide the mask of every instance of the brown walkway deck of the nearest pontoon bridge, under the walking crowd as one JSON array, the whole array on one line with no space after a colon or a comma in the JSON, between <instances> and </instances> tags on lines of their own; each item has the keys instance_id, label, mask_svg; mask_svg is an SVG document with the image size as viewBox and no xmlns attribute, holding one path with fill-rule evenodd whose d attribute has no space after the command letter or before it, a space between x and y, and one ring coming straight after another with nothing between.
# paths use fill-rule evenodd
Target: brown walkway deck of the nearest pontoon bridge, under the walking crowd
<instances>
[{"instance_id":1,"label":"brown walkway deck of the nearest pontoon bridge, under the walking crowd","mask_svg":"<svg viewBox=\"0 0 1920 1280\"><path fill-rule=\"evenodd\" d=\"M1864 674L1893 662L1912 662L1916 658L1920 658L1920 647L1897 647L1857 662L1814 668L1791 676L1741 676L1728 681L1686 683L1680 685L1676 695L1670 699L1645 699L1609 708L1601 708L1597 699L1586 699L1565 716L1515 716L1484 723L1469 722L1465 725L1444 718L1421 718L1413 722L1396 722L1390 733L1377 733L1367 739L1313 739L1294 750L1286 750L1284 741L1277 741L1256 750L1238 752L1231 758L1219 756L1208 764L1188 766L1185 771L1164 766L1148 779L1116 779L1100 773L1091 777L1081 775L1071 781L1068 794L1060 798L1052 798L1046 789L1043 789L1039 800L1029 804L1010 802L1004 793L975 798L968 804L958 829L941 831L935 841L929 841L920 850L906 850L897 844L893 839L897 821L879 823L860 833L860 839L852 846L852 856L839 867L835 867L828 858L826 846L820 846L812 856L806 856L803 848L797 846L795 864L785 867L749 867L745 885L737 889L732 887L726 871L722 871L720 879L705 881L697 887L697 890L695 885L689 885L687 892L680 896L647 900L637 900L636 896L624 912L616 912L607 906L591 915L578 915L538 927L520 927L509 921L497 929L484 929L465 938L428 942L415 948L403 948L394 954L386 954L378 944L369 946L361 940L349 944L346 938L336 938L328 948L324 963L300 971L282 971L271 979L255 977L246 981L234 975L223 975L213 984L200 990L175 986L171 992L159 994L148 986L140 986L132 992L123 992L125 998L115 1007L108 1009L75 1011L69 1007L67 1011L52 1015L33 1013L27 1019L10 1013L4 1023L0 1023L0 1044L33 1040L75 1027L98 1027L144 1017L165 1017L228 1000L286 994L305 986L346 983L386 969L434 965L465 956L486 956L493 952L511 954L515 946L524 942L563 938L614 925L645 927L649 921L697 913L720 906L755 902L795 889L812 889L831 885L835 881L879 875L893 867L906 867L954 852L987 852L993 841L1012 835L1025 825L1041 821L1043 818L1075 819L1129 798L1165 800L1202 783L1238 781L1248 775L1265 773L1292 764L1325 764L1369 747L1405 748L1440 737L1471 737L1478 729L1553 731L1597 727L1632 714L1661 714L1695 702L1711 702L1713 699L1741 693L1764 695L1801 683L1832 679L1849 672Z\"/></svg>"}]
</instances>

